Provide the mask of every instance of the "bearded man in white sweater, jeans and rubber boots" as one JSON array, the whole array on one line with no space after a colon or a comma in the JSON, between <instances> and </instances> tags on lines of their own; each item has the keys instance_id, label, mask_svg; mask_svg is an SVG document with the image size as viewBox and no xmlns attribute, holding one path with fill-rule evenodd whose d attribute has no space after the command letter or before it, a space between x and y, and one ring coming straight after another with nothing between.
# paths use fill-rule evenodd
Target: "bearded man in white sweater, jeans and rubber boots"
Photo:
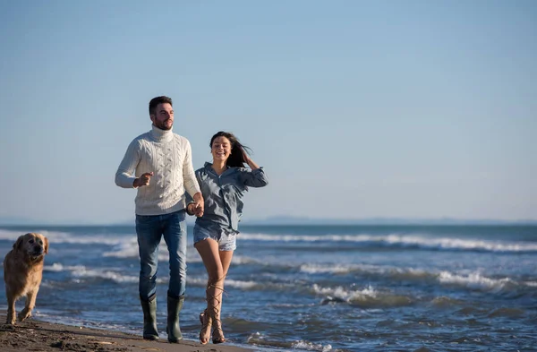
<instances>
[{"instance_id":1,"label":"bearded man in white sweater, jeans and rubber boots","mask_svg":"<svg viewBox=\"0 0 537 352\"><path fill-rule=\"evenodd\" d=\"M149 102L152 129L129 145L115 173L115 185L137 188L136 235L140 253L140 301L143 338L158 339L157 267L158 245L164 236L169 252L170 282L167 291L169 342L183 339L179 312L183 308L186 282L185 191L203 214L203 196L192 167L191 145L172 132L172 99L157 97Z\"/></svg>"}]
</instances>

